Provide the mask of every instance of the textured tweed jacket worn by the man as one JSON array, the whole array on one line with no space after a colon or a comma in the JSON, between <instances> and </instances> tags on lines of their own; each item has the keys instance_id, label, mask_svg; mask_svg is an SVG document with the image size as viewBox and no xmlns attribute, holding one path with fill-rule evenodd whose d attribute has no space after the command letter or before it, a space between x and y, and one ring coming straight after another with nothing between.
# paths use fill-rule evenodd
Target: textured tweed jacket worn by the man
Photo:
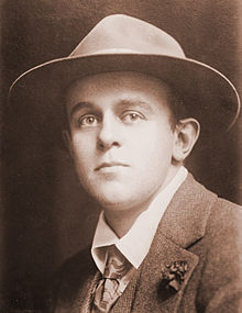
<instances>
[{"instance_id":1,"label":"textured tweed jacket worn by the man","mask_svg":"<svg viewBox=\"0 0 242 313\"><path fill-rule=\"evenodd\" d=\"M175 261L186 262L187 268L174 289L164 273L170 273L168 265ZM52 310L89 312L99 278L90 248L73 257L57 275ZM242 312L241 208L188 175L112 312Z\"/></svg>"}]
</instances>

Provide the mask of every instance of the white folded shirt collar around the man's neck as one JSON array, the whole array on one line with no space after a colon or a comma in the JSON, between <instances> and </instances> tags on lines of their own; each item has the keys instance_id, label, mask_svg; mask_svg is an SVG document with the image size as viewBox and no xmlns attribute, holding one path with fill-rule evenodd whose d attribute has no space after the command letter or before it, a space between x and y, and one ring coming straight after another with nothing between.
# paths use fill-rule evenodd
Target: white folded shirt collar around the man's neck
<instances>
[{"instance_id":1,"label":"white folded shirt collar around the man's neck","mask_svg":"<svg viewBox=\"0 0 242 313\"><path fill-rule=\"evenodd\" d=\"M173 195L186 179L187 172L187 169L182 166L172 181L157 193L148 209L138 216L130 231L122 238L119 238L106 223L103 211L100 213L92 241L91 255L102 273L106 264L106 247L109 245L116 245L135 268L140 267L148 253L158 223Z\"/></svg>"}]
</instances>

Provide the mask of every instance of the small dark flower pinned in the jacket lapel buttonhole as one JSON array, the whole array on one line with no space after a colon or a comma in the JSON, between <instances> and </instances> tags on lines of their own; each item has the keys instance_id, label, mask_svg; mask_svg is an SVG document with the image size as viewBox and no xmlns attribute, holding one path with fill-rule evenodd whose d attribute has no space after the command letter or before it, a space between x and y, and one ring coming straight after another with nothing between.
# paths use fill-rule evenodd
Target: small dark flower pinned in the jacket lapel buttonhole
<instances>
[{"instance_id":1,"label":"small dark flower pinned in the jacket lapel buttonhole","mask_svg":"<svg viewBox=\"0 0 242 313\"><path fill-rule=\"evenodd\" d=\"M178 291L188 270L186 260L177 260L166 264L162 269L162 282L165 289Z\"/></svg>"}]
</instances>

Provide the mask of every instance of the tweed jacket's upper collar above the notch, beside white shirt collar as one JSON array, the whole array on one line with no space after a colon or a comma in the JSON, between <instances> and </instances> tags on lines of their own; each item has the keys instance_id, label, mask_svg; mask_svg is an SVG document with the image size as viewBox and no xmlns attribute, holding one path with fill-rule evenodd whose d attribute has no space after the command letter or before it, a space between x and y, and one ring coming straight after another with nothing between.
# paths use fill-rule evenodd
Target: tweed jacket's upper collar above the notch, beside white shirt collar
<instances>
[{"instance_id":1,"label":"tweed jacket's upper collar above the notch, beside white shirt collar","mask_svg":"<svg viewBox=\"0 0 242 313\"><path fill-rule=\"evenodd\" d=\"M165 236L187 248L205 235L207 220L217 195L197 182L189 174L170 201L158 227Z\"/></svg>"}]
</instances>

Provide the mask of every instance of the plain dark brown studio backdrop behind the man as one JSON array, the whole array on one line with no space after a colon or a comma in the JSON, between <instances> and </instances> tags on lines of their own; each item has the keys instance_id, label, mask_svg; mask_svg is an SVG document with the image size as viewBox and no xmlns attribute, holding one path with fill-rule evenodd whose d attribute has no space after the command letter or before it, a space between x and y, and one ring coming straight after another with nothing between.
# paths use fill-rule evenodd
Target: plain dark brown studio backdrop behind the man
<instances>
[{"instance_id":1,"label":"plain dark brown studio backdrop behind the man","mask_svg":"<svg viewBox=\"0 0 242 313\"><path fill-rule=\"evenodd\" d=\"M241 93L240 2L1 1L1 112L6 111L8 88L20 74L67 56L102 18L113 13L130 14L163 29L188 57L219 69ZM3 122L4 114L1 125ZM229 134L197 144L187 163L199 181L237 203L242 203L241 133L240 118ZM9 305L21 310L44 306L52 272L90 241L98 211L79 187L67 153L50 145L51 134L44 139L29 136L13 149L3 145L1 163L2 295ZM8 142L8 133L3 139Z\"/></svg>"}]
</instances>

